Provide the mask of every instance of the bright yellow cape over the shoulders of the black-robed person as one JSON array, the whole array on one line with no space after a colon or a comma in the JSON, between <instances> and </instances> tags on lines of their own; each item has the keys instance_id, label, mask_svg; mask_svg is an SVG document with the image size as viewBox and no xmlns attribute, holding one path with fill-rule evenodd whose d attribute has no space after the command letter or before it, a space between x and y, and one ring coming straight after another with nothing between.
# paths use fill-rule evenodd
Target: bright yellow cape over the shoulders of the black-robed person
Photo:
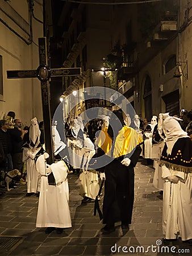
<instances>
[{"instance_id":1,"label":"bright yellow cape over the shoulders of the black-robed person","mask_svg":"<svg viewBox=\"0 0 192 256\"><path fill-rule=\"evenodd\" d=\"M106 155L112 158L118 158L119 156L131 153L132 150L142 142L143 139L140 137L137 131L135 131L131 127L123 126L115 139L115 146L112 156L112 139L107 133L107 128L103 129L99 133L99 137L97 139L97 146L100 147Z\"/></svg>"}]
</instances>

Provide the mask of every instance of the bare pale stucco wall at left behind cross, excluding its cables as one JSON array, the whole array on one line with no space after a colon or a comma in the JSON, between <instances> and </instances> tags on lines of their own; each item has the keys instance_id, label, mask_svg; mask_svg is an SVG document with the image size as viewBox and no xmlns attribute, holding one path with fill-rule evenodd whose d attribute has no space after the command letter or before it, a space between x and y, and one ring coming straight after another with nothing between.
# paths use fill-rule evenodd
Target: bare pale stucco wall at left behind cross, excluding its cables
<instances>
[{"instance_id":1,"label":"bare pale stucco wall at left behind cross, excluding its cables","mask_svg":"<svg viewBox=\"0 0 192 256\"><path fill-rule=\"evenodd\" d=\"M28 22L26 0L3 2L15 8L15 11ZM6 9L7 6L4 5L3 7ZM35 3L34 10L37 18L43 20L42 6ZM10 15L14 17L15 13L10 13ZM20 30L18 26L15 26L14 23L11 23L6 15L3 16L3 21L28 40L27 34ZM39 121L42 120L40 82L37 79L7 79L6 71L36 69L39 66L37 38L43 36L43 26L34 19L32 21L32 32L33 42L27 45L5 24L0 22L0 55L3 62L3 96L0 96L0 114L7 114L12 110L16 113L16 118L22 119L24 125L30 125L30 119L35 116Z\"/></svg>"}]
</instances>

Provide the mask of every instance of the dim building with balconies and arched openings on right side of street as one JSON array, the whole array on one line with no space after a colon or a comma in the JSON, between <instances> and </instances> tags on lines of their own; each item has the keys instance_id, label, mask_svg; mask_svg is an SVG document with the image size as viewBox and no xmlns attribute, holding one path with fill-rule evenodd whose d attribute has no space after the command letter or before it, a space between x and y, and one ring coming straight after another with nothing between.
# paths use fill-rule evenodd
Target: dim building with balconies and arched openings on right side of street
<instances>
[{"instance_id":1,"label":"dim building with balconies and arched openings on right side of street","mask_svg":"<svg viewBox=\"0 0 192 256\"><path fill-rule=\"evenodd\" d=\"M181 109L191 110L191 1L115 9L112 42L122 58L120 92L149 120L162 112L180 115Z\"/></svg>"}]
</instances>

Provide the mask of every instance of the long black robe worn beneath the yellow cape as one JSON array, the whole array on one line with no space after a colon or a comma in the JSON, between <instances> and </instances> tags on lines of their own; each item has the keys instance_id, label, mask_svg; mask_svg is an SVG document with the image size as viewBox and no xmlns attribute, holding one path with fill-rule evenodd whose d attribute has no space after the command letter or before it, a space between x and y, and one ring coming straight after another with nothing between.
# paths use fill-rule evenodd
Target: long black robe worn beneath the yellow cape
<instances>
[{"instance_id":1,"label":"long black robe worn beneath the yellow cape","mask_svg":"<svg viewBox=\"0 0 192 256\"><path fill-rule=\"evenodd\" d=\"M105 166L105 196L103 199L103 224L113 225L117 221L131 224L134 201L134 167L139 159L141 147L136 146L130 157L130 166L121 161L124 156L115 158Z\"/></svg>"}]
</instances>

